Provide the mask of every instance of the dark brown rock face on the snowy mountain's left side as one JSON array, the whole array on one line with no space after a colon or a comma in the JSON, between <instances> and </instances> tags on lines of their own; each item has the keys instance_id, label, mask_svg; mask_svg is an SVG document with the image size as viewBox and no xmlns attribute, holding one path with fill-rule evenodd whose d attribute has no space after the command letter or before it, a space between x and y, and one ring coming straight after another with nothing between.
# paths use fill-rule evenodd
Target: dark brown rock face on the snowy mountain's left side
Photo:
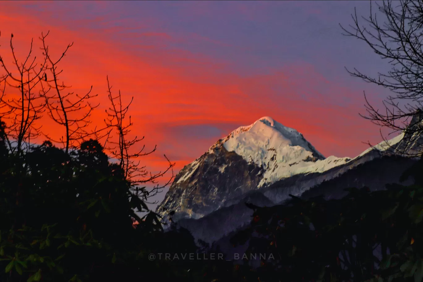
<instances>
[{"instance_id":1,"label":"dark brown rock face on the snowy mountain's left side","mask_svg":"<svg viewBox=\"0 0 423 282\"><path fill-rule=\"evenodd\" d=\"M201 218L224 207L228 199L257 187L262 171L225 147L216 146L176 175L157 211L162 216L166 209L175 211L174 221Z\"/></svg>"}]
</instances>

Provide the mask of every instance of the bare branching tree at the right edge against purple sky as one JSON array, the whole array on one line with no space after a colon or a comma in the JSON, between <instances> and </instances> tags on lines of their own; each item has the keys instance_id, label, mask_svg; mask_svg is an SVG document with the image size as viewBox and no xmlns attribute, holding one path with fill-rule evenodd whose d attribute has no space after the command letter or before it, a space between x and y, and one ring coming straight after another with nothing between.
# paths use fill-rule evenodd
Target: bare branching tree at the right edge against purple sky
<instances>
[{"instance_id":1,"label":"bare branching tree at the right edge against purple sky","mask_svg":"<svg viewBox=\"0 0 423 282\"><path fill-rule=\"evenodd\" d=\"M390 63L392 68L386 73L369 77L354 68L347 71L354 77L390 89L392 96L383 101L384 109L374 108L365 96L367 115L375 124L388 127L393 132L404 133L404 141L398 144L396 152L408 156L420 156L423 140L423 2L392 1L376 3L379 11L374 13L370 3L370 16L361 17L365 25L359 23L354 10L354 25L341 28L346 36L360 39ZM382 21L379 21L382 18Z\"/></svg>"}]
</instances>

